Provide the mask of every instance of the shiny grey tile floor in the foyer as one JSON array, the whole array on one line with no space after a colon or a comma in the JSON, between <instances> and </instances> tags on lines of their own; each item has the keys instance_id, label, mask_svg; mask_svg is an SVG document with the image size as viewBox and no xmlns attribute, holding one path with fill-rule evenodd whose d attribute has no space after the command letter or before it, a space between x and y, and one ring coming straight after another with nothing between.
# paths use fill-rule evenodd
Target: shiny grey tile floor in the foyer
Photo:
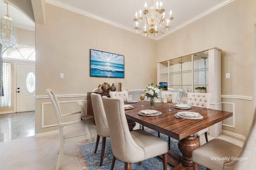
<instances>
[{"instance_id":1,"label":"shiny grey tile floor in the foyer","mask_svg":"<svg viewBox=\"0 0 256 170\"><path fill-rule=\"evenodd\" d=\"M0 142L35 135L35 112L0 115Z\"/></svg>"}]
</instances>

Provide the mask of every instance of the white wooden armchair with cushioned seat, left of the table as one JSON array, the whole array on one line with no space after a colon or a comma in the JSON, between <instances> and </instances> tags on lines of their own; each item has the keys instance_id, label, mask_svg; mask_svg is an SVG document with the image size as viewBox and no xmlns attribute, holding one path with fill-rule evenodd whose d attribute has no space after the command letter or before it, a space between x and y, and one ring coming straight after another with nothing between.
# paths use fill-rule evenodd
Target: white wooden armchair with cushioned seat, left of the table
<instances>
[{"instance_id":1,"label":"white wooden armchair with cushioned seat, left of the table","mask_svg":"<svg viewBox=\"0 0 256 170\"><path fill-rule=\"evenodd\" d=\"M72 142L91 139L92 137L96 137L97 133L96 133L96 127L93 124L92 119L64 122L63 117L80 114L80 111L76 113L62 114L59 102L54 92L51 89L47 89L46 92L54 108L54 112L55 112L57 123L58 123L59 135L60 135L60 152L59 152L59 158L58 158L58 163L56 167L56 170L58 170L60 169L60 166L61 166L65 143L72 143Z\"/></svg>"}]
</instances>

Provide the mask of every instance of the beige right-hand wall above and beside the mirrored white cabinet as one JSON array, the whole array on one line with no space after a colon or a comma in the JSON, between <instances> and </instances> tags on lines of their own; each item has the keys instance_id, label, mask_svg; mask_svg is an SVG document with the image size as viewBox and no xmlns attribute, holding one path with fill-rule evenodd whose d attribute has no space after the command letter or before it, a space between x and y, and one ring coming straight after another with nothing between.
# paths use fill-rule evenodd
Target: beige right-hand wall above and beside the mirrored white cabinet
<instances>
[{"instance_id":1,"label":"beige right-hand wall above and beside the mirrored white cabinet","mask_svg":"<svg viewBox=\"0 0 256 170\"><path fill-rule=\"evenodd\" d=\"M207 16L157 41L157 61L171 59L210 47L221 53L222 94L254 97L253 26L256 1L235 0ZM230 73L229 79L225 73ZM246 136L254 111L254 101L234 102L236 128L224 130Z\"/></svg>"}]
</instances>

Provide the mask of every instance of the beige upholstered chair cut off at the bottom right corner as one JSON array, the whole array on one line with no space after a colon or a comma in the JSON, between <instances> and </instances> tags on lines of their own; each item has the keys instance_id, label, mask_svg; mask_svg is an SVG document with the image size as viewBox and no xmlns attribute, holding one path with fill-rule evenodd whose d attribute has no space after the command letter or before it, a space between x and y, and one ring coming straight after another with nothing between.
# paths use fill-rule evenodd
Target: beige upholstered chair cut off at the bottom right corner
<instances>
[{"instance_id":1,"label":"beige upholstered chair cut off at the bottom right corner","mask_svg":"<svg viewBox=\"0 0 256 170\"><path fill-rule=\"evenodd\" d=\"M193 150L193 169L198 169L198 164L201 164L212 170L255 170L255 141L256 109L254 110L250 131L244 141L242 148L221 139L212 139L208 143ZM226 160L212 160L212 158L226 158ZM242 160L243 158L247 160Z\"/></svg>"}]
</instances>

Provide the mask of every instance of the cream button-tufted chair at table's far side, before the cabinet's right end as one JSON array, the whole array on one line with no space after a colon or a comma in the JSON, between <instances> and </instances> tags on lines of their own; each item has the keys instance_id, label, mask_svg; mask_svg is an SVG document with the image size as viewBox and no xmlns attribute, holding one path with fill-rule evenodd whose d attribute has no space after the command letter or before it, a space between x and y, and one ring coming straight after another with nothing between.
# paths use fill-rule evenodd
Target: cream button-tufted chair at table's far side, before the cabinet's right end
<instances>
[{"instance_id":1,"label":"cream button-tufted chair at table's far side, before the cabinet's right end","mask_svg":"<svg viewBox=\"0 0 256 170\"><path fill-rule=\"evenodd\" d=\"M210 107L210 99L212 94L210 93L188 93L188 105L197 107ZM200 139L200 135L204 133L205 140L208 142L207 131L208 127L198 131L195 135Z\"/></svg>"}]
</instances>

